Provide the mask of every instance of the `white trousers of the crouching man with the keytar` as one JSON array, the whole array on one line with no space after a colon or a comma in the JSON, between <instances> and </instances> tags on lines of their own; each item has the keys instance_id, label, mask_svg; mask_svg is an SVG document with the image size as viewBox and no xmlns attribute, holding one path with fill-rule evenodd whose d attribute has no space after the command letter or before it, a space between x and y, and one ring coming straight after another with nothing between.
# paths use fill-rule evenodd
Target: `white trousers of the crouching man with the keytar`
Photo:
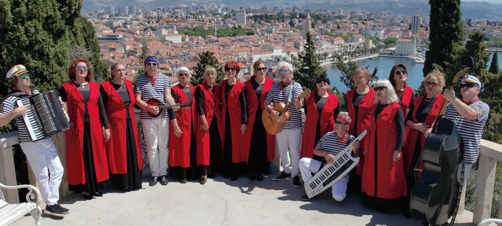
<instances>
[{"instance_id":1,"label":"white trousers of the crouching man with the keytar","mask_svg":"<svg viewBox=\"0 0 502 226\"><path fill-rule=\"evenodd\" d=\"M307 184L307 181L312 179L312 173L317 173L321 167L321 162L315 159L302 158L300 160L300 171L302 171L303 182ZM339 202L343 201L345 196L347 196L347 183L349 175L346 174L338 182L333 184L331 187L331 194L333 198Z\"/></svg>"}]
</instances>

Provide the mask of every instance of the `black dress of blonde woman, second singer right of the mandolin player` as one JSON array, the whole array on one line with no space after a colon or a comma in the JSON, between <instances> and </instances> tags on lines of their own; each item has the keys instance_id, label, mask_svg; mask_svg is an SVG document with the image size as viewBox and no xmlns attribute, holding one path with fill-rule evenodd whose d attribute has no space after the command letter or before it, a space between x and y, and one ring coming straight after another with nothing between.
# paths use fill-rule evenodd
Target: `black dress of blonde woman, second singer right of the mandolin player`
<instances>
[{"instance_id":1,"label":"black dress of blonde woman, second singer right of the mandolin player","mask_svg":"<svg viewBox=\"0 0 502 226\"><path fill-rule=\"evenodd\" d=\"M212 93L214 93L214 85L209 87ZM219 96L214 96L216 103L216 98ZM197 101L197 109L199 115L205 115L204 112L204 93L202 89L197 89L195 93L195 100ZM215 108L218 106L214 106ZM211 125L209 126L209 167L206 168L207 172L201 172L201 175L208 175L214 178L215 173L219 173L223 170L223 153L221 151L221 139L218 131L218 121L216 120L216 112L213 114L213 119L211 120ZM204 174L206 173L206 174Z\"/></svg>"}]
</instances>

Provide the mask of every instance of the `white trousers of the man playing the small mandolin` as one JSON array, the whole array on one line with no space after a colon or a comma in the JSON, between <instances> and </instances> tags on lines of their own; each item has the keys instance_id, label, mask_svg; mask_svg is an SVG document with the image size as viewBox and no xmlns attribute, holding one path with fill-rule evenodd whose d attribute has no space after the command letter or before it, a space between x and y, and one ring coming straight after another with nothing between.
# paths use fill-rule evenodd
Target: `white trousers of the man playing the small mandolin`
<instances>
[{"instance_id":1,"label":"white trousers of the man playing the small mandolin","mask_svg":"<svg viewBox=\"0 0 502 226\"><path fill-rule=\"evenodd\" d=\"M141 120L145 142L147 143L148 162L153 177L166 176L169 167L169 118Z\"/></svg>"}]
</instances>

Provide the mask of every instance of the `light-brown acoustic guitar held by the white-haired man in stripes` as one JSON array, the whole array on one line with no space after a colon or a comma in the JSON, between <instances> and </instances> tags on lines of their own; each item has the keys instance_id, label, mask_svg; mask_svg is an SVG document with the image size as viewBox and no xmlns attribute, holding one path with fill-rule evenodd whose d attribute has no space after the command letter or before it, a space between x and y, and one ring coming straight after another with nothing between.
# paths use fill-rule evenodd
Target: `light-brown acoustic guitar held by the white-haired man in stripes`
<instances>
[{"instance_id":1,"label":"light-brown acoustic guitar held by the white-haired man in stripes","mask_svg":"<svg viewBox=\"0 0 502 226\"><path fill-rule=\"evenodd\" d=\"M310 95L310 89L305 89L301 94L300 94L300 99L303 99L307 96ZM289 102L288 104L285 103L277 103L274 106L274 110L279 111L279 116L275 117L269 112L267 112L267 109L263 111L262 114L262 122L263 126L265 127L265 130L267 133L274 135L281 133L284 123L289 121L289 107L293 105L293 101Z\"/></svg>"}]
</instances>

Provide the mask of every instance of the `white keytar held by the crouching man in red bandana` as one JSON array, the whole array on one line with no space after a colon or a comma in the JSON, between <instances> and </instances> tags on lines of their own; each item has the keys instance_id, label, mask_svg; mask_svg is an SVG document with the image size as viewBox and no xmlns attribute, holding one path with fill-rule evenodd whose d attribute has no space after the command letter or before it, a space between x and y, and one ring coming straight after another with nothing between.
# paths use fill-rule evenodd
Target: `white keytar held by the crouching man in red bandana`
<instances>
[{"instance_id":1,"label":"white keytar held by the crouching man in red bandana","mask_svg":"<svg viewBox=\"0 0 502 226\"><path fill-rule=\"evenodd\" d=\"M354 141L352 141L352 143L360 141L366 133L366 130L363 131L355 138ZM357 165L359 157L354 158L350 154L350 152L352 152L352 143L347 145L343 151L336 155L335 162L333 162L333 164L326 164L309 181L307 181L307 183L305 183L305 191L307 192L307 196L309 198L312 198L333 186L333 184L338 182L343 176L350 172L355 165Z\"/></svg>"}]
</instances>

